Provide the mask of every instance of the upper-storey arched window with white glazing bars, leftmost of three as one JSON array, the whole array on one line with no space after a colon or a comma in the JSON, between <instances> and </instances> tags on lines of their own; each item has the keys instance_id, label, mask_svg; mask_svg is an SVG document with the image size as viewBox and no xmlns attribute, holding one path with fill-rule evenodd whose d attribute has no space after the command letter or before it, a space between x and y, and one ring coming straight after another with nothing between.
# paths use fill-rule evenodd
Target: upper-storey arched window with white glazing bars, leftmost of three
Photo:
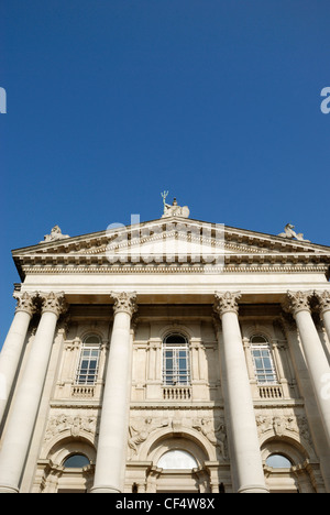
<instances>
[{"instance_id":1,"label":"upper-storey arched window with white glazing bars, leftmost of three","mask_svg":"<svg viewBox=\"0 0 330 515\"><path fill-rule=\"evenodd\" d=\"M79 365L77 370L76 384L94 385L99 370L100 338L90 335L85 338Z\"/></svg>"}]
</instances>

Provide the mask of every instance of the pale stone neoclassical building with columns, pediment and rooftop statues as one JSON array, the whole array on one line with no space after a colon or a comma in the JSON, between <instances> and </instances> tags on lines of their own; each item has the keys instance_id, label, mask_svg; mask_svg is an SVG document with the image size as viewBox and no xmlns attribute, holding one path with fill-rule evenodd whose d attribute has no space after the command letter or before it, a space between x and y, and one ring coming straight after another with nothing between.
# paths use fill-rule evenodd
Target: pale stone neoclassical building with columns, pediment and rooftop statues
<instances>
[{"instance_id":1,"label":"pale stone neoclassical building with columns, pediment and rooftop statues","mask_svg":"<svg viewBox=\"0 0 330 515\"><path fill-rule=\"evenodd\" d=\"M330 248L188 216L13 251L0 492L330 492Z\"/></svg>"}]
</instances>

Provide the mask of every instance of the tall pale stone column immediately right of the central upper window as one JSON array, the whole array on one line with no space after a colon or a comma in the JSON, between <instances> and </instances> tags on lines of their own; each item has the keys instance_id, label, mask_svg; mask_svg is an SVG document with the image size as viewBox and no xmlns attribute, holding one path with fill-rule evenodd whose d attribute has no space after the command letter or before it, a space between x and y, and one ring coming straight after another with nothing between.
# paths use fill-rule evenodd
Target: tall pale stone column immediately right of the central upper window
<instances>
[{"instance_id":1,"label":"tall pale stone column immediately right of the central upper window","mask_svg":"<svg viewBox=\"0 0 330 515\"><path fill-rule=\"evenodd\" d=\"M239 493L267 493L251 386L238 317L240 293L216 293L222 321L224 405L230 421L234 484Z\"/></svg>"}]
</instances>

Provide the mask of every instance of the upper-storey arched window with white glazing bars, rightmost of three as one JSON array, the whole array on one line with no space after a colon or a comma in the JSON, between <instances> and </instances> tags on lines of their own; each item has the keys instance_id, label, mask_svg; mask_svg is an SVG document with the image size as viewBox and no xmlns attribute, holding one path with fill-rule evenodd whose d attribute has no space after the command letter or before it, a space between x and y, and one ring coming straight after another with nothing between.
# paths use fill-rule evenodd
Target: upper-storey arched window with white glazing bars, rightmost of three
<instances>
[{"instance_id":1,"label":"upper-storey arched window with white glazing bars, rightmost of three","mask_svg":"<svg viewBox=\"0 0 330 515\"><path fill-rule=\"evenodd\" d=\"M268 340L262 335L253 336L251 338L251 352L257 383L277 383L277 374Z\"/></svg>"}]
</instances>

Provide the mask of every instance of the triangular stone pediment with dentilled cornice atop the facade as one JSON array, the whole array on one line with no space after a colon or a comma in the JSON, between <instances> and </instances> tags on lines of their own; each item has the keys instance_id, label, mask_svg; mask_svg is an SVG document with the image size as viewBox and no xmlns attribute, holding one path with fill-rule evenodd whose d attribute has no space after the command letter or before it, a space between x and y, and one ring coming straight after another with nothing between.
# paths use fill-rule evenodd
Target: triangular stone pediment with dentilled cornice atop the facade
<instances>
[{"instance_id":1,"label":"triangular stone pediment with dentilled cornice atop the facade","mask_svg":"<svg viewBox=\"0 0 330 515\"><path fill-rule=\"evenodd\" d=\"M63 237L13 251L21 272L29 266L329 266L330 248L308 241L173 217ZM24 274L23 274L24 275Z\"/></svg>"}]
</instances>

